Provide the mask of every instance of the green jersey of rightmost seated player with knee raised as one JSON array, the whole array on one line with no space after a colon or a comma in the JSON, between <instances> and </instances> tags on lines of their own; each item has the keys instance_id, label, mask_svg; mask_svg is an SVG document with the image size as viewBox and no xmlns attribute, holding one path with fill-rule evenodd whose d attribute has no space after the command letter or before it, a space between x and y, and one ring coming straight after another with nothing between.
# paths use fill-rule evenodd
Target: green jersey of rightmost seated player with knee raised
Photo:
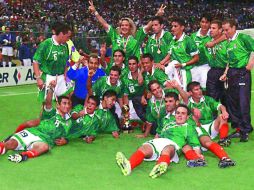
<instances>
[{"instance_id":1,"label":"green jersey of rightmost seated player with knee raised","mask_svg":"<svg viewBox=\"0 0 254 190\"><path fill-rule=\"evenodd\" d=\"M221 103L217 102L210 96L203 96L198 103L194 102L192 97L189 98L188 107L192 110L197 108L201 112L200 123L202 125L211 123L213 118L213 113L217 112Z\"/></svg>"}]
</instances>

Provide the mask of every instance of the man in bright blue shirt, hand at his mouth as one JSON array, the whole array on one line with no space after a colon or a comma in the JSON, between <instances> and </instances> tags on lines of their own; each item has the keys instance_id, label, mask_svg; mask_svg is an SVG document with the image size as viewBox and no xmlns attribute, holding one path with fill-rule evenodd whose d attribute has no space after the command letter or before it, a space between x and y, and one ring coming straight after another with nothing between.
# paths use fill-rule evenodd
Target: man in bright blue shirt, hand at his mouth
<instances>
[{"instance_id":1,"label":"man in bright blue shirt, hand at his mouth","mask_svg":"<svg viewBox=\"0 0 254 190\"><path fill-rule=\"evenodd\" d=\"M89 72L93 73L91 77L92 85L102 76L105 76L103 69L99 68L99 59L96 54L91 54L88 61L88 66L79 68L79 62L75 63L68 71L67 76L75 81L74 93L71 96L72 106L84 105L88 95L87 80Z\"/></svg>"}]
</instances>

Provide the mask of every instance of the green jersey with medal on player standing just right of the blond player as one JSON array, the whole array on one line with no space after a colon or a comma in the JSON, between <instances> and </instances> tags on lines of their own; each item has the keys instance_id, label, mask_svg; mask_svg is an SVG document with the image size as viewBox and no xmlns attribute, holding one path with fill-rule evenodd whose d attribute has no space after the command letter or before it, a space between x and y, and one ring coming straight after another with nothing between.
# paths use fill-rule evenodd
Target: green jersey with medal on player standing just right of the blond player
<instances>
[{"instance_id":1,"label":"green jersey with medal on player standing just right of the blond player","mask_svg":"<svg viewBox=\"0 0 254 190\"><path fill-rule=\"evenodd\" d=\"M167 56L172 39L173 36L170 32L162 30L159 39L156 39L155 34L148 38L144 53L150 53L153 56L154 62L159 63Z\"/></svg>"}]
</instances>

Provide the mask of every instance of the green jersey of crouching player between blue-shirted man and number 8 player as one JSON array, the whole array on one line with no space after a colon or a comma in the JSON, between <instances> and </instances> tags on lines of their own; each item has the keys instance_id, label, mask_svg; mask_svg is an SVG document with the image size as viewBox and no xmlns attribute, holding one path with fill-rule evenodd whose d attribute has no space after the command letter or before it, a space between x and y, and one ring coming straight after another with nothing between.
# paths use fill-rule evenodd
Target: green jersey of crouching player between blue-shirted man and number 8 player
<instances>
[{"instance_id":1,"label":"green jersey of crouching player between blue-shirted man and number 8 player","mask_svg":"<svg viewBox=\"0 0 254 190\"><path fill-rule=\"evenodd\" d=\"M122 98L123 96L123 85L120 80L118 80L115 86L112 86L109 81L109 77L104 76L97 80L94 85L92 86L93 94L95 96L100 97L102 99L103 94L107 90L114 90L117 94L118 98Z\"/></svg>"}]
</instances>

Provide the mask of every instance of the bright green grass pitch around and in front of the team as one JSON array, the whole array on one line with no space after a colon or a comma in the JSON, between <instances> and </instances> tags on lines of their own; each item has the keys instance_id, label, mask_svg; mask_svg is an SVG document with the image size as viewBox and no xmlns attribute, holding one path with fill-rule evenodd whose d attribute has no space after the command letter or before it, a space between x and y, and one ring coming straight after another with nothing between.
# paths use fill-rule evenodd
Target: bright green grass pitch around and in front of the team
<instances>
[{"instance_id":1,"label":"bright green grass pitch around and in front of the team","mask_svg":"<svg viewBox=\"0 0 254 190\"><path fill-rule=\"evenodd\" d=\"M253 91L254 87L252 97ZM36 118L39 109L35 85L0 88L0 139L10 135L23 121ZM253 110L252 105L252 118ZM134 134L121 134L118 140L100 135L93 144L77 139L20 164L7 160L8 154L13 153L10 151L0 156L0 189L253 189L253 134L248 143L234 139L225 148L237 163L232 168L218 168L219 160L208 152L205 153L208 166L204 168L187 168L181 157L179 164L171 164L158 179L148 176L154 162L144 162L130 176L123 176L115 153L123 151L129 157L145 140L136 139Z\"/></svg>"}]
</instances>

